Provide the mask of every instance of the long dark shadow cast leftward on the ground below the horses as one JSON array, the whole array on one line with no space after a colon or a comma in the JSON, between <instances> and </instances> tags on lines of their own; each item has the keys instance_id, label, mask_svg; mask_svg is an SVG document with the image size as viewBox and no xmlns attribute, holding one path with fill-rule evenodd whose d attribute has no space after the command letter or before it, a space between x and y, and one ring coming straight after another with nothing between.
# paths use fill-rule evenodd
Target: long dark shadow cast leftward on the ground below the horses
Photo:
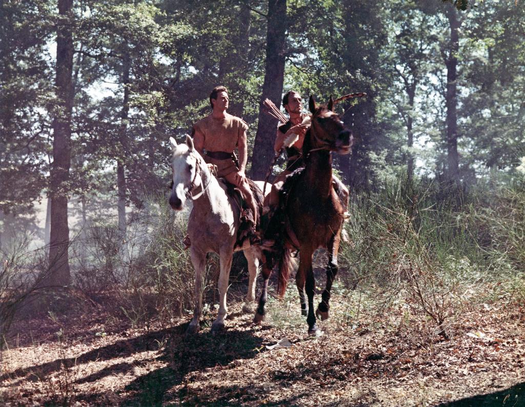
<instances>
[{"instance_id":1,"label":"long dark shadow cast leftward on the ground below the horses","mask_svg":"<svg viewBox=\"0 0 525 407\"><path fill-rule=\"evenodd\" d=\"M122 406L155 406L166 402L178 403L180 400L192 403L195 400L193 400L192 394L189 394L187 391L188 379L186 375L188 373L204 371L214 367L225 369L229 363L235 360L255 357L262 349L262 339L255 337L252 331L231 330L215 335L208 331L188 336L185 334L187 325L187 323L184 323L173 328L148 332L139 337L119 340L90 350L78 357L56 359L51 362L18 369L15 372L3 374L0 376L0 380L7 378L46 380L48 376L63 370L64 367L72 367L94 361L109 361L115 358L132 357L135 353L152 351L154 352L152 360L166 362L164 367L134 379L124 388L125 395L119 394L120 391L112 395L90 392L76 394L75 400L83 400L94 404L108 403L114 405L120 403ZM163 349L162 344L165 344ZM161 350L159 351L159 349ZM76 383L96 382L115 373L132 371L134 368L134 363L115 363L77 380ZM174 386L183 383L183 381L185 381L185 385L180 390L170 391ZM220 392L217 390L219 389L215 389L215 398L216 400L218 399L217 402L220 404L223 400L220 400ZM213 392L213 389L211 389L211 392ZM209 393L209 395L213 398L212 393Z\"/></svg>"}]
</instances>

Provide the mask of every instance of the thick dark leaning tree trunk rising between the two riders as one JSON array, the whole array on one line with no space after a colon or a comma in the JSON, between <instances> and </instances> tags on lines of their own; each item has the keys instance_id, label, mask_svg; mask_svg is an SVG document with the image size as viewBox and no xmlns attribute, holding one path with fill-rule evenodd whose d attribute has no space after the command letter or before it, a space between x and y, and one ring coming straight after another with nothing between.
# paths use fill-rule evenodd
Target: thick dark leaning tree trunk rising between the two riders
<instances>
[{"instance_id":1,"label":"thick dark leaning tree trunk rising between the two riders","mask_svg":"<svg viewBox=\"0 0 525 407\"><path fill-rule=\"evenodd\" d=\"M268 0L268 28L266 36L266 64L260 103L269 98L281 105L282 85L285 77L286 0ZM251 177L261 180L274 157L277 119L259 109L259 124L255 135Z\"/></svg>"}]
</instances>

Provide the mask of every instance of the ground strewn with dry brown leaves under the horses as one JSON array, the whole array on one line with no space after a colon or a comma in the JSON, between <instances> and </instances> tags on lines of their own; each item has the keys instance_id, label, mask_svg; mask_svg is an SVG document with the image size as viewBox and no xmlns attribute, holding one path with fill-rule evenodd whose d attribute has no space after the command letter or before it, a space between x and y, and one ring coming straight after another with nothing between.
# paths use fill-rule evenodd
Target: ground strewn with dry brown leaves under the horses
<instances>
[{"instance_id":1,"label":"ground strewn with dry brown leaves under the horses","mask_svg":"<svg viewBox=\"0 0 525 407\"><path fill-rule=\"evenodd\" d=\"M1 355L0 404L525 406L519 303L465 310L443 340L432 321L402 307L358 315L360 299L334 295L331 318L312 338L296 297L271 301L261 326L234 298L225 332L210 332L211 307L190 337L189 314L132 328L79 300L67 315L15 327Z\"/></svg>"}]
</instances>

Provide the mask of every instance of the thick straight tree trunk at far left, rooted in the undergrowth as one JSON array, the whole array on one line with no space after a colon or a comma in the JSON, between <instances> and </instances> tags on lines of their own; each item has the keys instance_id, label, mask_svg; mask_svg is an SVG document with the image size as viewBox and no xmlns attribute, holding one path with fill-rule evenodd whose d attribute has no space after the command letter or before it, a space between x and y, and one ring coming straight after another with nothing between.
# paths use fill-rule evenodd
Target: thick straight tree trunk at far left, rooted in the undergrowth
<instances>
[{"instance_id":1,"label":"thick straight tree trunk at far left, rooted in the undergrowth","mask_svg":"<svg viewBox=\"0 0 525 407\"><path fill-rule=\"evenodd\" d=\"M57 106L53 120L53 163L50 170L51 228L49 232L49 276L51 286L67 286L69 271L68 182L71 166L71 112L73 108L73 37L69 17L73 0L58 0L63 19L57 29Z\"/></svg>"}]
</instances>

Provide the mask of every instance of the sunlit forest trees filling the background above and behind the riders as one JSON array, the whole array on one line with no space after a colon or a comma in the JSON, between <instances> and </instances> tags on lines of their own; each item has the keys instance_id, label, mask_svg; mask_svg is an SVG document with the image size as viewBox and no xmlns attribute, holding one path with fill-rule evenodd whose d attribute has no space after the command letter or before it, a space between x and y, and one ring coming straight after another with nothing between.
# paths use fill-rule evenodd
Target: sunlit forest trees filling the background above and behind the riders
<instances>
[{"instance_id":1,"label":"sunlit forest trees filling the background above and behind the riders","mask_svg":"<svg viewBox=\"0 0 525 407\"><path fill-rule=\"evenodd\" d=\"M79 225L114 208L125 233L130 213L169 182L167 140L191 133L217 85L229 89L230 113L249 125L256 179L268 169L277 125L261 101L280 106L290 89L320 101L366 92L337 111L355 143L335 166L354 191L380 190L399 171L464 192L490 174L522 174L519 1L0 7L3 240L20 222L46 233L46 243L67 240L68 202L78 203L69 221ZM48 197L55 204L44 230L35 204Z\"/></svg>"}]
</instances>

